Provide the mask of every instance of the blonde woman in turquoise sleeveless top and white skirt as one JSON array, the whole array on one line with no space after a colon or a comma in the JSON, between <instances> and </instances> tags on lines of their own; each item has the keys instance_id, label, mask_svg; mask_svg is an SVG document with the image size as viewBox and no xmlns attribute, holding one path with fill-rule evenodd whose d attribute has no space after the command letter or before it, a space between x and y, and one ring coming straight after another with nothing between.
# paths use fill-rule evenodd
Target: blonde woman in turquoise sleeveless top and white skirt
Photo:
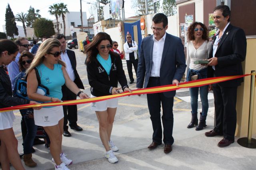
<instances>
[{"instance_id":1,"label":"blonde woman in turquoise sleeveless top and white skirt","mask_svg":"<svg viewBox=\"0 0 256 170\"><path fill-rule=\"evenodd\" d=\"M60 60L60 42L55 38L45 40L26 71L28 74L27 89L28 97L36 101L62 102L62 85L65 85L81 99L89 98L80 91L76 84L69 78L65 68L65 63ZM40 75L41 84L49 89L49 95L36 93L38 81L34 68L37 68ZM55 162L55 170L69 170L67 165L72 164L72 160L66 158L62 152L62 134L64 113L62 106L43 107L40 111L34 111L34 121L38 126L44 127L44 130L50 137L52 162Z\"/></svg>"}]
</instances>

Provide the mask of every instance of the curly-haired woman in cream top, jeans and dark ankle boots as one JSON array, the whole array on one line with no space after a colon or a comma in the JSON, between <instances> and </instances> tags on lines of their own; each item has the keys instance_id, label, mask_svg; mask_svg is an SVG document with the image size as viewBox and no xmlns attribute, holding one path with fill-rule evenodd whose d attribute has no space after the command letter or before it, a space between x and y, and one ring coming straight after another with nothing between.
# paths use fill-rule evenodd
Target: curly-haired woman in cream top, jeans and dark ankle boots
<instances>
[{"instance_id":1,"label":"curly-haired woman in cream top, jeans and dark ankle boots","mask_svg":"<svg viewBox=\"0 0 256 170\"><path fill-rule=\"evenodd\" d=\"M185 81L207 78L207 66L194 64L194 61L207 60L211 49L211 43L208 38L208 30L201 22L194 22L188 27L188 45ZM208 113L208 91L212 89L211 85L189 88L191 100L192 119L187 128L198 125L196 130L202 130L206 127L206 116ZM198 90L200 90L200 99L202 102L202 113L200 113L200 122L198 124Z\"/></svg>"}]
</instances>

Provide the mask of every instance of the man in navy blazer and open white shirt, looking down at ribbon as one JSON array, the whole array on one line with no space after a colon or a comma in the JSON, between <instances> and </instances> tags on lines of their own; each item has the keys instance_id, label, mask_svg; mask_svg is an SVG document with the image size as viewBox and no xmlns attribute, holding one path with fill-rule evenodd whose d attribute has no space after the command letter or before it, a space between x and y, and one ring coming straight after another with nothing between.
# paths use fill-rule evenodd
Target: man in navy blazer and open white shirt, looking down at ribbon
<instances>
[{"instance_id":1,"label":"man in navy blazer and open white shirt, looking down at ribbon","mask_svg":"<svg viewBox=\"0 0 256 170\"><path fill-rule=\"evenodd\" d=\"M178 86L186 69L184 46L180 38L166 33L168 19L164 14L158 13L152 18L154 35L142 40L137 72L137 88L156 87L160 85L175 84ZM145 80L145 81L144 81ZM172 151L174 138L173 128L173 101L176 91L148 94L148 109L153 127L153 142L148 146L154 149L162 144L162 122L164 127L164 152Z\"/></svg>"}]
</instances>

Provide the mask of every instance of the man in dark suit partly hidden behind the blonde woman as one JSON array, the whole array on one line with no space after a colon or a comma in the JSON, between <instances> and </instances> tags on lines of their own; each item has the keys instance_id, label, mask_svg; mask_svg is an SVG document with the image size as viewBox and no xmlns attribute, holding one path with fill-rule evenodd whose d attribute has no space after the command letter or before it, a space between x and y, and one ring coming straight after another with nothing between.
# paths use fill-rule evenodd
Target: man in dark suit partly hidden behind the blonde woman
<instances>
[{"instance_id":1,"label":"man in dark suit partly hidden behind the blonde woman","mask_svg":"<svg viewBox=\"0 0 256 170\"><path fill-rule=\"evenodd\" d=\"M58 34L56 39L59 40L61 46L61 59L66 63L66 70L68 72L68 75L72 81L77 85L79 89L84 89L84 85L76 71L76 55L74 51L66 49L66 40L65 36L62 34ZM62 86L62 100L75 100L76 94L74 94L70 89L66 87L66 85ZM76 131L82 131L83 129L77 125L77 106L76 105L68 105L63 106L63 112L64 112L64 125L63 125L63 135L66 137L70 137L71 134L68 132L68 121L69 126L71 129L74 129Z\"/></svg>"}]
</instances>

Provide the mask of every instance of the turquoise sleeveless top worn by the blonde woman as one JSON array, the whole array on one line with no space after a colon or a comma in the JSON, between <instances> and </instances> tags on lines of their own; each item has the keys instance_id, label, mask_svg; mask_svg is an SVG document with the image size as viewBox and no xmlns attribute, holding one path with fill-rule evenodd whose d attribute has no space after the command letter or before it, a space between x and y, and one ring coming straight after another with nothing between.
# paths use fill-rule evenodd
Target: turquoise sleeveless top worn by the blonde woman
<instances>
[{"instance_id":1,"label":"turquoise sleeveless top worn by the blonde woman","mask_svg":"<svg viewBox=\"0 0 256 170\"><path fill-rule=\"evenodd\" d=\"M54 69L51 70L46 67L43 63L38 65L38 73L40 75L41 84L49 89L49 97L62 99L61 86L65 84L64 75L62 72L63 66L61 64L54 64ZM46 101L45 103L49 103Z\"/></svg>"}]
</instances>

